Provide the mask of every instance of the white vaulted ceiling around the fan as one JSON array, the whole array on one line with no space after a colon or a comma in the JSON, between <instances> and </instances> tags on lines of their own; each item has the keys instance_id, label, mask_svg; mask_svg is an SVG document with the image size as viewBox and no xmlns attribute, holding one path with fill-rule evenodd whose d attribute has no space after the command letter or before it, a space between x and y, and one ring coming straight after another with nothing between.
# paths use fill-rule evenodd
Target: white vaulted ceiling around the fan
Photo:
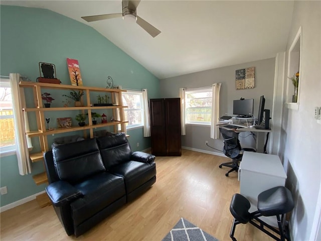
<instances>
[{"instance_id":1,"label":"white vaulted ceiling around the fan","mask_svg":"<svg viewBox=\"0 0 321 241\"><path fill-rule=\"evenodd\" d=\"M49 9L87 24L159 79L275 57L285 51L293 12L293 1L142 0L137 15L162 31L152 38L122 18L81 19L121 13L121 0L1 4Z\"/></svg>"}]
</instances>

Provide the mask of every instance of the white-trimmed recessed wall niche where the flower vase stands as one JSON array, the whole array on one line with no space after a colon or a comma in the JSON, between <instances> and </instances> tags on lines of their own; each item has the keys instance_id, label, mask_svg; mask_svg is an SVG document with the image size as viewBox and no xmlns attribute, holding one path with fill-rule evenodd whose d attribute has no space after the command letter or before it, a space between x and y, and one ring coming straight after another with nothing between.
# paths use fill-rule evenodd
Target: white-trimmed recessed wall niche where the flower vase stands
<instances>
[{"instance_id":1,"label":"white-trimmed recessed wall niche where the flower vase stands","mask_svg":"<svg viewBox=\"0 0 321 241\"><path fill-rule=\"evenodd\" d=\"M300 102L300 86L302 84L302 72L301 72L301 49L302 49L302 31L301 27L297 31L297 34L289 48L288 54L288 68L287 68L287 85L286 85L286 107L288 109L298 110ZM297 97L295 101L294 97L294 85L292 83L292 77L296 72L299 72Z\"/></svg>"}]
</instances>

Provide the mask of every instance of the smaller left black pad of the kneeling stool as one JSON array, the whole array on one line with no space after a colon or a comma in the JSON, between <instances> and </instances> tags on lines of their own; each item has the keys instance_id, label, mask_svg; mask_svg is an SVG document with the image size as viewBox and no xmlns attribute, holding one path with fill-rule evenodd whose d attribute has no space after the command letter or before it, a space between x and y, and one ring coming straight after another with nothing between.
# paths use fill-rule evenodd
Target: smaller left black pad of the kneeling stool
<instances>
[{"instance_id":1,"label":"smaller left black pad of the kneeling stool","mask_svg":"<svg viewBox=\"0 0 321 241\"><path fill-rule=\"evenodd\" d=\"M251 204L246 197L239 193L235 193L233 195L230 204L230 211L236 220L244 224L247 223L251 219L249 213L250 207Z\"/></svg>"}]
</instances>

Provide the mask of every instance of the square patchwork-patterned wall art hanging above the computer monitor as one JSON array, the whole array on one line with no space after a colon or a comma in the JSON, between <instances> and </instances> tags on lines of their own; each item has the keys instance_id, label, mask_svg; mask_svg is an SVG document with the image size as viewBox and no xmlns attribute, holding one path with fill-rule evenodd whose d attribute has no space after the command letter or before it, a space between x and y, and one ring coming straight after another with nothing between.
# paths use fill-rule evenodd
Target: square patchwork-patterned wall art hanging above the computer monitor
<instances>
[{"instance_id":1,"label":"square patchwork-patterned wall art hanging above the computer monitor","mask_svg":"<svg viewBox=\"0 0 321 241\"><path fill-rule=\"evenodd\" d=\"M235 70L236 89L252 89L255 87L255 67Z\"/></svg>"}]
</instances>

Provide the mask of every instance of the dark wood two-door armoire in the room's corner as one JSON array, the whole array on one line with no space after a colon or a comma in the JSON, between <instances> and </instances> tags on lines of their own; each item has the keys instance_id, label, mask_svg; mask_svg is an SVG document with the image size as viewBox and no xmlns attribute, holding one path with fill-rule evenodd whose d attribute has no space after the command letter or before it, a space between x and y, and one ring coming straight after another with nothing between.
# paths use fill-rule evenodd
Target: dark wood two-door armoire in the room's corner
<instances>
[{"instance_id":1,"label":"dark wood two-door armoire in the room's corner","mask_svg":"<svg viewBox=\"0 0 321 241\"><path fill-rule=\"evenodd\" d=\"M149 99L151 154L181 156L181 98Z\"/></svg>"}]
</instances>

